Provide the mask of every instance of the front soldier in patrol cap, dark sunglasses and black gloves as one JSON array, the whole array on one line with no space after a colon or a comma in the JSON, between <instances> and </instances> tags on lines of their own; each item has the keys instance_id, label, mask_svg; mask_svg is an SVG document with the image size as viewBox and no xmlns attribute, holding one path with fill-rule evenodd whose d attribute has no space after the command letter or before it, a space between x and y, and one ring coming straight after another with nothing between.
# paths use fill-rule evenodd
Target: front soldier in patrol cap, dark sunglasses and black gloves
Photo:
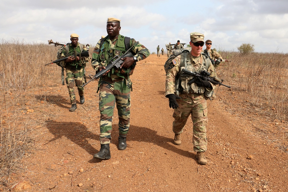
<instances>
[{"instance_id":1,"label":"front soldier in patrol cap, dark sunglasses and black gloves","mask_svg":"<svg viewBox=\"0 0 288 192\"><path fill-rule=\"evenodd\" d=\"M197 78L194 83L189 85L187 82L194 77L181 75L181 70L186 69L198 73L204 70L211 74L210 77L217 76L210 59L206 54L201 54L204 35L190 33L190 40L191 51L177 56L168 67L165 96L169 98L170 108L174 109L174 144L181 145L180 134L183 132L187 119L191 114L193 149L197 152L196 159L198 159L198 163L206 164L206 124L208 122L206 99L212 96L215 85L205 78Z\"/></svg>"}]
</instances>

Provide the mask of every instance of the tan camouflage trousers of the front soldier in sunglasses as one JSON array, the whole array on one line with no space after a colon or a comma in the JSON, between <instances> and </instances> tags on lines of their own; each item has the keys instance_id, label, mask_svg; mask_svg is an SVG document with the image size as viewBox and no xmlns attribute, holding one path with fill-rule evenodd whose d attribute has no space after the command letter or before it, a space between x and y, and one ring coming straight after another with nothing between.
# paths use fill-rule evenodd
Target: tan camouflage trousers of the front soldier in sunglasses
<instances>
[{"instance_id":1,"label":"tan camouflage trousers of the front soldier in sunglasses","mask_svg":"<svg viewBox=\"0 0 288 192\"><path fill-rule=\"evenodd\" d=\"M200 100L197 103L187 103L182 100L177 100L179 107L174 109L173 117L173 132L182 133L184 126L187 122L189 115L193 121L193 150L206 151L207 150L207 138L206 138L206 125L208 123L207 117L207 103L205 99Z\"/></svg>"}]
</instances>

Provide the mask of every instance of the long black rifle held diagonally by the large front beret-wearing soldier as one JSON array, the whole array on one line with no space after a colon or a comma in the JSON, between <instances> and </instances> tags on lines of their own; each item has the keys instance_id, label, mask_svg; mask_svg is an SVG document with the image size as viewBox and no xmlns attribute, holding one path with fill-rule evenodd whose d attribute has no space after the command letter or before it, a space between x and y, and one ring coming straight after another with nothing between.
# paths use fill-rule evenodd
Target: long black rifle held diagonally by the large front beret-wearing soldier
<instances>
[{"instance_id":1,"label":"long black rifle held diagonally by the large front beret-wearing soldier","mask_svg":"<svg viewBox=\"0 0 288 192\"><path fill-rule=\"evenodd\" d=\"M136 43L135 43L136 44ZM135 45L134 44L134 45ZM99 71L98 73L96 73L95 75L89 75L89 77L91 78L91 80L87 81L87 83L85 83L84 85L82 85L81 87L84 87L85 85L87 85L88 83L90 83L90 81L93 81L94 79L98 79L99 77L101 77L104 73L106 73L107 71L109 71L110 69L113 68L113 66L115 66L117 69L120 68L120 66L122 65L122 63L124 62L122 60L122 58L125 57L133 57L134 55L130 52L130 49L134 46L132 45L123 55L119 56L116 55L115 57L113 57L110 61L110 63L105 66L106 69L102 69L101 71ZM115 59L115 60L114 60ZM114 61L113 61L114 60Z\"/></svg>"}]
</instances>

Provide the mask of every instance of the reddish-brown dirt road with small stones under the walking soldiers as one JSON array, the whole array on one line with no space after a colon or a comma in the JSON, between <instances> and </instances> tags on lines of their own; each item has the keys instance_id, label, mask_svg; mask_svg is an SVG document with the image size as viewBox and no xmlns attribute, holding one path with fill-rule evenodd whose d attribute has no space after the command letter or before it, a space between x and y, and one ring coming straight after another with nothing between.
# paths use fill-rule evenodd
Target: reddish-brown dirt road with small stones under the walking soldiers
<instances>
[{"instance_id":1,"label":"reddish-brown dirt road with small stones under the walking soldiers","mask_svg":"<svg viewBox=\"0 0 288 192\"><path fill-rule=\"evenodd\" d=\"M117 149L115 109L111 159L104 161L93 159L100 149L98 82L86 85L83 105L76 91L78 109L69 112L59 69L59 79L51 79L46 91L36 93L39 103L31 106L30 114L41 125L34 130L35 149L22 160L25 172L14 177L28 181L33 191L288 191L287 153L259 131L262 120L232 113L242 108L233 99L233 86L221 86L217 99L208 101L207 165L195 159L191 119L182 144L173 144L173 109L164 97L166 59L153 54L137 63L131 76L128 147ZM94 74L90 66L87 73Z\"/></svg>"}]
</instances>

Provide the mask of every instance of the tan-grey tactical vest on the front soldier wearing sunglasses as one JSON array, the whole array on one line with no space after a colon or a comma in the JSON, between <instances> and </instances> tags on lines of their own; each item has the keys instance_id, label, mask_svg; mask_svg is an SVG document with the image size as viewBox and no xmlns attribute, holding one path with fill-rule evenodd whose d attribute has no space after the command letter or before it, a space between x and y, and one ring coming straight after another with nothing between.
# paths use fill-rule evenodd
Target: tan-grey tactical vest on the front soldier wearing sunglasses
<instances>
[{"instance_id":1,"label":"tan-grey tactical vest on the front soldier wearing sunglasses","mask_svg":"<svg viewBox=\"0 0 288 192\"><path fill-rule=\"evenodd\" d=\"M195 69L194 65L191 63L191 54L188 51L184 51L181 54L179 71L182 69L186 69L192 72L200 73L200 71L208 71L210 67L210 59L206 54L200 55L200 63L202 63L199 69ZM206 97L211 97L213 91L207 91L204 87L198 87L196 83L192 83L191 85L188 82L193 79L193 76L190 75L178 75L178 79L176 81L176 94L179 93L198 93L204 94Z\"/></svg>"}]
</instances>

